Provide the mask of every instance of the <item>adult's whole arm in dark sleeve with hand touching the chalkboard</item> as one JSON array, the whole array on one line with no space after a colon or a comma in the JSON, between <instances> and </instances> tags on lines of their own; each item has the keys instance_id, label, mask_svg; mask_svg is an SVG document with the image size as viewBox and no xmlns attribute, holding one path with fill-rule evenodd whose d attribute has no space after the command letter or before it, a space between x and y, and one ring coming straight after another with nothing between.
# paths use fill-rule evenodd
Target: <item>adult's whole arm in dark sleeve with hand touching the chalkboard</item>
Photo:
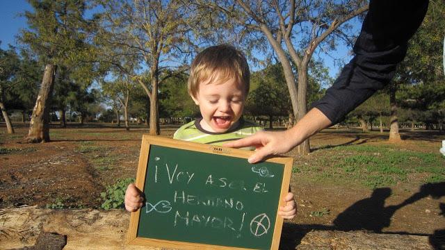
<instances>
[{"instance_id":1,"label":"adult's whole arm in dark sleeve with hand touching the chalkboard","mask_svg":"<svg viewBox=\"0 0 445 250\"><path fill-rule=\"evenodd\" d=\"M286 153L321 129L337 124L354 108L391 81L428 9L428 0L373 0L362 24L355 56L340 76L296 126L283 132L261 132L225 147L257 147L249 158L257 163Z\"/></svg>"}]
</instances>

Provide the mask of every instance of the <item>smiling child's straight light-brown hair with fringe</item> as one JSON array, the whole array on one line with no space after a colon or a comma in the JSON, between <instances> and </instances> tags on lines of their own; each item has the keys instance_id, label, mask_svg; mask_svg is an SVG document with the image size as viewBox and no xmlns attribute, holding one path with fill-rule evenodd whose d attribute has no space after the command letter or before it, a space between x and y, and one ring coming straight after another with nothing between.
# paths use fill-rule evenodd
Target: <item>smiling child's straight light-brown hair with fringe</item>
<instances>
[{"instance_id":1,"label":"smiling child's straight light-brown hair with fringe","mask_svg":"<svg viewBox=\"0 0 445 250\"><path fill-rule=\"evenodd\" d=\"M208 47L193 60L188 77L188 94L197 97L202 81L212 83L218 80L218 83L225 83L229 79L234 79L236 84L242 85L247 96L250 71L245 56L228 44Z\"/></svg>"}]
</instances>

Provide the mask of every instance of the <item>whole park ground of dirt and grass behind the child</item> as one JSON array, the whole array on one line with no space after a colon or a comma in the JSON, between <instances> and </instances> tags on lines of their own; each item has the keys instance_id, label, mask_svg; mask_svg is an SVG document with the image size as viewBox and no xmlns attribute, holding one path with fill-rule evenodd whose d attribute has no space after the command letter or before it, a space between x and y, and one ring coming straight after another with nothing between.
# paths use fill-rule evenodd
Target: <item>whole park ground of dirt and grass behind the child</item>
<instances>
[{"instance_id":1,"label":"whole park ground of dirt and grass behind the child","mask_svg":"<svg viewBox=\"0 0 445 250\"><path fill-rule=\"evenodd\" d=\"M162 126L161 136L172 138L177 128ZM141 138L148 133L69 124L51 127L49 143L26 144L28 127L16 124L15 131L10 135L0 125L0 208L110 207L111 198L101 193L136 177ZM289 152L298 215L284 225L283 236L312 230L444 234L445 157L439 148L445 134L402 130L401 136L402 142L389 143L388 132L329 128L312 138L309 155Z\"/></svg>"}]
</instances>

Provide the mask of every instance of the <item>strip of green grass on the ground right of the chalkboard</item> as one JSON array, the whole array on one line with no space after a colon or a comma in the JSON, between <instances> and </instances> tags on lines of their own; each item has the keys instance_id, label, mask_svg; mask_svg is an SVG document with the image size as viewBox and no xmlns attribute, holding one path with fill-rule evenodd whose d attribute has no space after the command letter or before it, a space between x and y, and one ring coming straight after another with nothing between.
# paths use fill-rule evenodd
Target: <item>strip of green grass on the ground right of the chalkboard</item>
<instances>
[{"instance_id":1,"label":"strip of green grass on the ground right of the chalkboard","mask_svg":"<svg viewBox=\"0 0 445 250\"><path fill-rule=\"evenodd\" d=\"M395 145L353 145L321 149L293 173L319 182L358 183L375 189L396 183L445 181L445 157L398 149Z\"/></svg>"}]
</instances>

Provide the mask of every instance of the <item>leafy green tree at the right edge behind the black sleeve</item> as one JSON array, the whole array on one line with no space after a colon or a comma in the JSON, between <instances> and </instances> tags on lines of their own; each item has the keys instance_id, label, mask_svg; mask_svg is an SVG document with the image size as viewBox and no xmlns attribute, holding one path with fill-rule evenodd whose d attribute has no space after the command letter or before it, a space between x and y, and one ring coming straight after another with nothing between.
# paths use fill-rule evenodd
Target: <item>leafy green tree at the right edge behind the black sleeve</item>
<instances>
[{"instance_id":1,"label":"leafy green tree at the right edge behind the black sleeve","mask_svg":"<svg viewBox=\"0 0 445 250\"><path fill-rule=\"evenodd\" d=\"M431 1L423 23L408 43L405 60L399 65L390 85L391 128L390 141L400 140L398 133L397 106L423 110L425 117L430 108L432 113L444 113L445 78L442 67L442 39L445 36L445 3ZM398 90L402 90L397 94ZM399 96L399 97L398 97ZM430 122L430 121L428 121ZM427 123L428 126L428 123Z\"/></svg>"}]
</instances>

